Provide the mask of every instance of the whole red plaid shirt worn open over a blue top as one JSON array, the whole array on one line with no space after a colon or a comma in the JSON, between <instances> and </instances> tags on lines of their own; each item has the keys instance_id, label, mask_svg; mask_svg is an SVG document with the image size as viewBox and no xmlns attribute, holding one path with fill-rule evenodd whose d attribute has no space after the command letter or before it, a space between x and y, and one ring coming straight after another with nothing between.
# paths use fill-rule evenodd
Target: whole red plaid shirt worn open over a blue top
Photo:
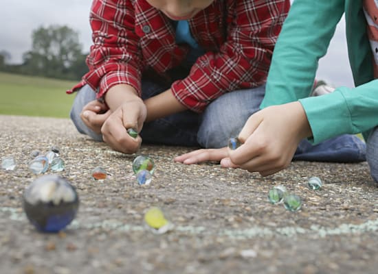
<instances>
[{"instance_id":1,"label":"whole red plaid shirt worn open over a blue top","mask_svg":"<svg viewBox=\"0 0 378 274\"><path fill-rule=\"evenodd\" d=\"M190 19L190 32L205 54L189 75L173 82L173 94L201 112L225 92L264 84L289 0L214 0ZM102 97L117 84L140 90L143 71L164 75L186 58L187 45L175 43L175 29L146 0L93 0L89 72L67 93L85 84Z\"/></svg>"}]
</instances>

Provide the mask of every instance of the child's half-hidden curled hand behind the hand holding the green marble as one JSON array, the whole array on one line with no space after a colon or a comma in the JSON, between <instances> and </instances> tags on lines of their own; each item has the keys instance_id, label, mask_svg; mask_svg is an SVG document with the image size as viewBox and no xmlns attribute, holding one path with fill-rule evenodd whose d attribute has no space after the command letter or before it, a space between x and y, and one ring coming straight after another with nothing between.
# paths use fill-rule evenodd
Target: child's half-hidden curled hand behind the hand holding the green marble
<instances>
[{"instance_id":1,"label":"child's half-hidden curled hand behind the hand holding the green marble","mask_svg":"<svg viewBox=\"0 0 378 274\"><path fill-rule=\"evenodd\" d=\"M82 121L97 134L101 133L101 127L104 124L105 120L111 114L111 110L107 108L107 105L101 103L100 101L94 100L90 101L82 108L80 117Z\"/></svg>"}]
</instances>

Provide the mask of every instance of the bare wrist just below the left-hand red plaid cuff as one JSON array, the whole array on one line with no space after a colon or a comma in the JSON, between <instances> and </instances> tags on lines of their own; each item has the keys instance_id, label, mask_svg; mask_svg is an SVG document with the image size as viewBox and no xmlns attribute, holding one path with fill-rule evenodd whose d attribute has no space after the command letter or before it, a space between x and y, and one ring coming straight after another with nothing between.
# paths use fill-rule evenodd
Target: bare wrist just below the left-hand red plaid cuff
<instances>
[{"instance_id":1,"label":"bare wrist just below the left-hand red plaid cuff","mask_svg":"<svg viewBox=\"0 0 378 274\"><path fill-rule=\"evenodd\" d=\"M135 88L126 84L120 84L109 88L104 99L109 108L113 111L122 105L122 103L133 100L142 100L137 95Z\"/></svg>"}]
</instances>

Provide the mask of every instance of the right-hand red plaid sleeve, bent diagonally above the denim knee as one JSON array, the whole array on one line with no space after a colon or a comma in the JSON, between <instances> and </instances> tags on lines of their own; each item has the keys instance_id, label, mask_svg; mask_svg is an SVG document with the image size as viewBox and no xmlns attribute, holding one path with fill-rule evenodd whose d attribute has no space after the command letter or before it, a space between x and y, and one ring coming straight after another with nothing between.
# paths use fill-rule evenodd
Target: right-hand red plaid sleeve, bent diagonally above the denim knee
<instances>
[{"instance_id":1,"label":"right-hand red plaid sleeve, bent diagonally above the denim knee","mask_svg":"<svg viewBox=\"0 0 378 274\"><path fill-rule=\"evenodd\" d=\"M227 14L227 40L219 52L202 55L188 77L171 86L173 95L194 112L203 111L225 92L266 82L271 54L290 2L232 2Z\"/></svg>"}]
</instances>

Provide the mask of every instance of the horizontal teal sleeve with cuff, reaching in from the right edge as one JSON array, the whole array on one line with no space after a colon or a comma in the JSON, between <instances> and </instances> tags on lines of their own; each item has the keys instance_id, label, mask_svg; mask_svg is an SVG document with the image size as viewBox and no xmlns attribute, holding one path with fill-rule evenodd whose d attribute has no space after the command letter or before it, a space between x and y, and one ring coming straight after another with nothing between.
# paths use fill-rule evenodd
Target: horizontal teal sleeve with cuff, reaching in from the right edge
<instances>
[{"instance_id":1,"label":"horizontal teal sleeve with cuff, reaching in from the right edge","mask_svg":"<svg viewBox=\"0 0 378 274\"><path fill-rule=\"evenodd\" d=\"M300 99L313 132L322 142L340 134L368 132L378 125L378 80L357 88L337 88L328 95Z\"/></svg>"}]
</instances>

